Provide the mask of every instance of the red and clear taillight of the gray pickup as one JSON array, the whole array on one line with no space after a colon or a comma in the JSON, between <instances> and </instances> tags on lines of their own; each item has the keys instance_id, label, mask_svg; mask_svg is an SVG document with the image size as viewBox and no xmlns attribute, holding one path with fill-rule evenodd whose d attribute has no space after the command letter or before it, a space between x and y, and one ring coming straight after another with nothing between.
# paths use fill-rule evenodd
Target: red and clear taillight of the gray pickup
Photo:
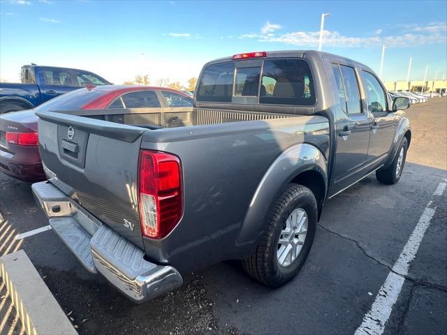
<instances>
[{"instance_id":1,"label":"red and clear taillight of the gray pickup","mask_svg":"<svg viewBox=\"0 0 447 335\"><path fill-rule=\"evenodd\" d=\"M182 175L177 156L140 151L138 194L142 234L161 239L182 217Z\"/></svg>"}]
</instances>

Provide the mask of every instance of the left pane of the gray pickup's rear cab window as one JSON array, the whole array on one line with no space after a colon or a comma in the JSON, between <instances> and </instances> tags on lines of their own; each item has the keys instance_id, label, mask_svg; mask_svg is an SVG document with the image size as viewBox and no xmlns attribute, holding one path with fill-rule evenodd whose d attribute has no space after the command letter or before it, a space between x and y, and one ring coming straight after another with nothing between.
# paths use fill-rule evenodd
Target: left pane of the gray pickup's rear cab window
<instances>
[{"instance_id":1,"label":"left pane of the gray pickup's rear cab window","mask_svg":"<svg viewBox=\"0 0 447 335\"><path fill-rule=\"evenodd\" d=\"M205 68L198 84L198 101L230 103L233 92L234 63Z\"/></svg>"}]
</instances>

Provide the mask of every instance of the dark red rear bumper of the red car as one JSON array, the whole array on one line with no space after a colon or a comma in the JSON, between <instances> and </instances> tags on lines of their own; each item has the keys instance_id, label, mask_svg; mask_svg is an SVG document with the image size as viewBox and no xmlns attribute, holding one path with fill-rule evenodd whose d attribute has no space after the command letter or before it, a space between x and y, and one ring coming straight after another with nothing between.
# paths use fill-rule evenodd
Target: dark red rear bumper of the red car
<instances>
[{"instance_id":1,"label":"dark red rear bumper of the red car","mask_svg":"<svg viewBox=\"0 0 447 335\"><path fill-rule=\"evenodd\" d=\"M45 180L42 163L17 162L15 155L0 148L0 171L23 181Z\"/></svg>"}]
</instances>

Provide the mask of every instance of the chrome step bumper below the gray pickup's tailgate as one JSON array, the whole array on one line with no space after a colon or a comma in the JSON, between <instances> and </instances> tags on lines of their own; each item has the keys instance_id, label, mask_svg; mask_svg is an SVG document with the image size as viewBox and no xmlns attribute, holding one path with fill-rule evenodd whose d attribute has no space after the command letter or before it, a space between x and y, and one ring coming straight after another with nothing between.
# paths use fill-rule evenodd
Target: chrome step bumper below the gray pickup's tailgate
<instances>
[{"instance_id":1,"label":"chrome step bumper below the gray pickup's tailgate","mask_svg":"<svg viewBox=\"0 0 447 335\"><path fill-rule=\"evenodd\" d=\"M32 186L36 202L54 232L92 273L100 273L134 302L145 302L183 283L177 269L144 259L144 251L79 207L59 188L43 181Z\"/></svg>"}]
</instances>

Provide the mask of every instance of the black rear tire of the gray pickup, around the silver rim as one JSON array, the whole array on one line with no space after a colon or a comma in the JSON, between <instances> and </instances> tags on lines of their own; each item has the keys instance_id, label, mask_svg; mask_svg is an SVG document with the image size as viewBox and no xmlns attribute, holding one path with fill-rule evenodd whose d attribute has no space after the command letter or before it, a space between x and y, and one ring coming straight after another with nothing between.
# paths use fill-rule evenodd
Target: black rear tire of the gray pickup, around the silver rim
<instances>
[{"instance_id":1,"label":"black rear tire of the gray pickup, around the silver rim","mask_svg":"<svg viewBox=\"0 0 447 335\"><path fill-rule=\"evenodd\" d=\"M290 265L283 267L277 258L279 237L286 226L286 219L298 208L304 209L307 214L307 234L298 257ZM270 209L256 250L242 260L245 271L257 281L273 288L290 281L298 274L309 255L314 242L317 215L314 193L302 185L288 185Z\"/></svg>"}]
</instances>

